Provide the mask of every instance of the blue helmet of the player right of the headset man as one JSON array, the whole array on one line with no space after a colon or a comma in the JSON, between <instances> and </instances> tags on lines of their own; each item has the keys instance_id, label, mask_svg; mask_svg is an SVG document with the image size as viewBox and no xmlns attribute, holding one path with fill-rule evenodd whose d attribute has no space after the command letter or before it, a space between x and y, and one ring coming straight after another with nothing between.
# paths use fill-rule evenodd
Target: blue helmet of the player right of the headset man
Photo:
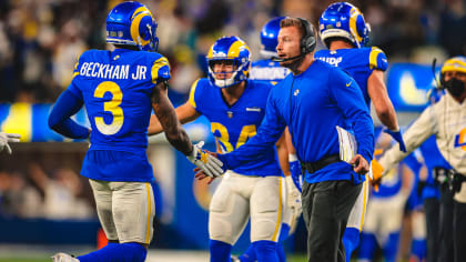
<instances>
[{"instance_id":1,"label":"blue helmet of the player right of the headset man","mask_svg":"<svg viewBox=\"0 0 466 262\"><path fill-rule=\"evenodd\" d=\"M362 48L368 42L371 26L364 20L363 13L351 3L336 2L325 9L318 20L321 39L328 48L330 38L344 38Z\"/></svg>"}]
</instances>

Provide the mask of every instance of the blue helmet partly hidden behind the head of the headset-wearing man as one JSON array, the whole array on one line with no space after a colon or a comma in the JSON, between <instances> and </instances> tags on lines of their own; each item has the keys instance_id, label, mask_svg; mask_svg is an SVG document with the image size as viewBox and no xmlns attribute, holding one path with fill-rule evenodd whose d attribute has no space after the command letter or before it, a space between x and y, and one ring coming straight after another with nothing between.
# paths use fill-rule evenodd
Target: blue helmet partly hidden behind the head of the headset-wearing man
<instances>
[{"instance_id":1,"label":"blue helmet partly hidden behind the head of the headset-wearing man","mask_svg":"<svg viewBox=\"0 0 466 262\"><path fill-rule=\"evenodd\" d=\"M278 44L280 22L285 17L276 17L269 20L261 30L261 56L264 58L277 57L276 46Z\"/></svg>"}]
</instances>

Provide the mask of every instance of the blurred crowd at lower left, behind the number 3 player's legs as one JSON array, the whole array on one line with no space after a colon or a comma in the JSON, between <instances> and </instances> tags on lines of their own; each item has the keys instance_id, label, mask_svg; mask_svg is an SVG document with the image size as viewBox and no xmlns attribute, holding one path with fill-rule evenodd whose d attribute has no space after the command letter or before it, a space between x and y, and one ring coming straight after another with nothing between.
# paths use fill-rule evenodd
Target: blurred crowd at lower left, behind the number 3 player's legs
<instances>
[{"instance_id":1,"label":"blurred crowd at lower left, behind the number 3 player's legs","mask_svg":"<svg viewBox=\"0 0 466 262\"><path fill-rule=\"evenodd\" d=\"M89 183L69 168L45 173L41 164L0 170L0 216L88 220L97 218Z\"/></svg>"}]
</instances>

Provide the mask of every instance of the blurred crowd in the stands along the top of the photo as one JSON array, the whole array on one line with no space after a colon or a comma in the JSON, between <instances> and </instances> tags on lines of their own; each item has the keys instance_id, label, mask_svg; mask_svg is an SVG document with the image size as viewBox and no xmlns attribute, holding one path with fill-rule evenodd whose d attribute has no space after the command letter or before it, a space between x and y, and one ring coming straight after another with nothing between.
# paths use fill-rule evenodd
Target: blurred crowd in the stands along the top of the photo
<instances>
[{"instance_id":1,"label":"blurred crowd in the stands along the top of the photo","mask_svg":"<svg viewBox=\"0 0 466 262\"><path fill-rule=\"evenodd\" d=\"M0 102L53 102L71 81L79 56L105 49L105 17L121 0L0 1ZM314 24L330 0L152 0L159 52L172 66L171 98L183 101L204 75L204 56L221 36L245 39L259 58L262 26L272 17L303 17ZM371 44L389 62L429 63L466 54L466 1L350 1L372 27ZM322 46L321 46L322 48Z\"/></svg>"}]
</instances>

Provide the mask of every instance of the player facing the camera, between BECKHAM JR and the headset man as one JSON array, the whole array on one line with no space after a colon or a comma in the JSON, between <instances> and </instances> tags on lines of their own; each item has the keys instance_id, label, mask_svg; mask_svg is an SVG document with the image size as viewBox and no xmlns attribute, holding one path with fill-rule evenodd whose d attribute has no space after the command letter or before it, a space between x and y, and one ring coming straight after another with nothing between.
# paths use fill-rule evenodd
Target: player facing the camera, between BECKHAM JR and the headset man
<instances>
[{"instance_id":1,"label":"player facing the camera, between BECKHAM JR and the headset man","mask_svg":"<svg viewBox=\"0 0 466 262\"><path fill-rule=\"evenodd\" d=\"M231 152L254 137L265 114L272 84L249 80L251 51L237 37L215 41L206 56L209 78L196 80L189 100L176 108L181 123L205 115L217 151ZM155 117L149 133L161 132ZM276 242L285 199L283 174L271 150L224 174L209 208L211 261L230 261L232 245L251 218L251 242L257 261L278 261Z\"/></svg>"}]
</instances>

